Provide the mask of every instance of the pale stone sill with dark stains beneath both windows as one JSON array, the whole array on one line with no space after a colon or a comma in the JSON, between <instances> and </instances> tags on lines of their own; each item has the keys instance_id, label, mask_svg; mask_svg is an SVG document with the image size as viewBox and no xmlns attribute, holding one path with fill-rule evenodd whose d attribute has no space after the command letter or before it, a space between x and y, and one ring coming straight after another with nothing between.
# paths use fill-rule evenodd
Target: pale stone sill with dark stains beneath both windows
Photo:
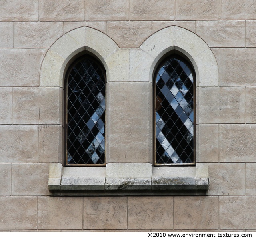
<instances>
[{"instance_id":1,"label":"pale stone sill with dark stains beneath both windows","mask_svg":"<svg viewBox=\"0 0 256 239\"><path fill-rule=\"evenodd\" d=\"M140 195L140 191L206 191L208 165L152 167L151 163L108 163L106 167L63 167L51 163L48 188L53 194L61 191L96 194L97 191L104 195L121 191L133 195Z\"/></svg>"}]
</instances>

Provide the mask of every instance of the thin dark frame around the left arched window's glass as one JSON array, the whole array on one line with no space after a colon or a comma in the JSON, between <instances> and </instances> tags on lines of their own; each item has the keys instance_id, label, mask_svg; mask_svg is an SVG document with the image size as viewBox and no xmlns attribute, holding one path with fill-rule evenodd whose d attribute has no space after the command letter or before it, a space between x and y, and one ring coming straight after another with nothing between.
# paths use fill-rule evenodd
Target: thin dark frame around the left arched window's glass
<instances>
[{"instance_id":1,"label":"thin dark frame around the left arched window's glass","mask_svg":"<svg viewBox=\"0 0 256 239\"><path fill-rule=\"evenodd\" d=\"M104 127L105 127L105 149L104 149L104 163L102 164L68 164L68 150L67 150L67 143L68 143L68 80L70 77L70 73L73 70L74 66L80 62L81 60L88 58L93 60L94 62L96 62L98 64L98 66L101 68L103 74L104 74L104 80L105 80L105 123L104 123ZM87 52L84 52L84 54L82 54L80 56L80 54L78 55L78 57L75 58L75 60L72 61L72 63L70 64L65 77L64 77L64 165L65 167L105 167L106 166L106 88L107 88L107 78L106 78L106 70L103 66L103 64L100 62L100 60L98 60L98 58L96 58L96 56L92 55L92 54L88 54Z\"/></svg>"}]
</instances>

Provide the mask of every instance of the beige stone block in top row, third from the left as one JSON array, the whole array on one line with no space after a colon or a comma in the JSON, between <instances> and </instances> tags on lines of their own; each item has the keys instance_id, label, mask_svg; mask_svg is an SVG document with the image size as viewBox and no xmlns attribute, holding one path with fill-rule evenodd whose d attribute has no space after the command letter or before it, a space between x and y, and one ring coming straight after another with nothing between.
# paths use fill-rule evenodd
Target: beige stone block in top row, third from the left
<instances>
[{"instance_id":1,"label":"beige stone block in top row, third from the left","mask_svg":"<svg viewBox=\"0 0 256 239\"><path fill-rule=\"evenodd\" d=\"M86 21L125 21L129 20L128 0L86 0Z\"/></svg>"}]
</instances>

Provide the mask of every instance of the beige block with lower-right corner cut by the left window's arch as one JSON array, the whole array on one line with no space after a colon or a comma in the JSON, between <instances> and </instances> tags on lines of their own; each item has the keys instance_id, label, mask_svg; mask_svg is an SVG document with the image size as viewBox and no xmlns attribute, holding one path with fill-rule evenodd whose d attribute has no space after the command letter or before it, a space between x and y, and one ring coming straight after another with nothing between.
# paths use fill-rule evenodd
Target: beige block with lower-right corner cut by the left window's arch
<instances>
[{"instance_id":1,"label":"beige block with lower-right corner cut by the left window's arch","mask_svg":"<svg viewBox=\"0 0 256 239\"><path fill-rule=\"evenodd\" d=\"M15 22L15 48L49 48L62 36L62 22Z\"/></svg>"}]
</instances>

